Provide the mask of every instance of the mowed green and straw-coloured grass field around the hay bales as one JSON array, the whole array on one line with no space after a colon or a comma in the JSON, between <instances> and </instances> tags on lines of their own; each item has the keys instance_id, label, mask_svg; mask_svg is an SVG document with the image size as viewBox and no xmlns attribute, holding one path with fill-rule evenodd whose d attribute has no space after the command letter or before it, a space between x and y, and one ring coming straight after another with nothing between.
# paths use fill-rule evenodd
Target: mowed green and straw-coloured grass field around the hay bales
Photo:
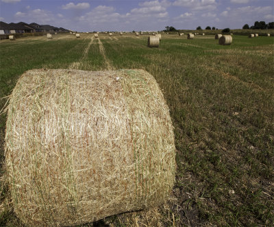
<instances>
[{"instance_id":1,"label":"mowed green and straw-coloured grass field around the hay bales","mask_svg":"<svg viewBox=\"0 0 274 227\"><path fill-rule=\"evenodd\" d=\"M170 108L177 175L166 204L105 219L111 226L274 225L274 38L114 34L0 41L0 97L29 69L145 69ZM0 110L6 98L0 99ZM0 115L4 161L6 114ZM1 175L3 167L1 165ZM20 226L1 182L0 226ZM100 225L99 222L97 226Z\"/></svg>"}]
</instances>

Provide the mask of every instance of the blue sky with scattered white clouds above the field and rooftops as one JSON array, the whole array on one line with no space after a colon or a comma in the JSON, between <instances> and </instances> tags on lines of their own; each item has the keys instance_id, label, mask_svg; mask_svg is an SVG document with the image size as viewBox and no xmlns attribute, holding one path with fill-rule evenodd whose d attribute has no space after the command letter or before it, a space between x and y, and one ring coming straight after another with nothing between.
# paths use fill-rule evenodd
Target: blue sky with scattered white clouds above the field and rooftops
<instances>
[{"instance_id":1,"label":"blue sky with scattered white clouds above the field and rooftops","mask_svg":"<svg viewBox=\"0 0 274 227\"><path fill-rule=\"evenodd\" d=\"M242 28L274 21L273 0L0 0L0 21L85 31Z\"/></svg>"}]
</instances>

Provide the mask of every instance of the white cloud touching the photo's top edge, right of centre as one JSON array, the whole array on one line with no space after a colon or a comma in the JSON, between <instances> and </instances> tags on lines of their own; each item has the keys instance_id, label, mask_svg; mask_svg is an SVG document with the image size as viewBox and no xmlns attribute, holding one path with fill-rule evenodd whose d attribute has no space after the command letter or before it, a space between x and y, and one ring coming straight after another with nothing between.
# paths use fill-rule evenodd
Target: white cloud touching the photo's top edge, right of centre
<instances>
[{"instance_id":1,"label":"white cloud touching the photo's top edge, right of centre","mask_svg":"<svg viewBox=\"0 0 274 227\"><path fill-rule=\"evenodd\" d=\"M173 5L190 8L191 10L216 10L215 0L176 0Z\"/></svg>"}]
</instances>

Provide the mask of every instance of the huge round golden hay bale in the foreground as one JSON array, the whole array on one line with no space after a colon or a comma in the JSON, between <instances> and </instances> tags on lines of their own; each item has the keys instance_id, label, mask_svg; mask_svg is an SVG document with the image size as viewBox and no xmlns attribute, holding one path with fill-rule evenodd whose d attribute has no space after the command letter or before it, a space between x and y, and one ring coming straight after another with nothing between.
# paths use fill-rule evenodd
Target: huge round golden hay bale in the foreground
<instances>
[{"instance_id":1,"label":"huge round golden hay bale in the foreground","mask_svg":"<svg viewBox=\"0 0 274 227\"><path fill-rule=\"evenodd\" d=\"M10 96L5 164L14 211L29 226L158 206L175 181L169 108L140 69L27 71Z\"/></svg>"}]
</instances>

